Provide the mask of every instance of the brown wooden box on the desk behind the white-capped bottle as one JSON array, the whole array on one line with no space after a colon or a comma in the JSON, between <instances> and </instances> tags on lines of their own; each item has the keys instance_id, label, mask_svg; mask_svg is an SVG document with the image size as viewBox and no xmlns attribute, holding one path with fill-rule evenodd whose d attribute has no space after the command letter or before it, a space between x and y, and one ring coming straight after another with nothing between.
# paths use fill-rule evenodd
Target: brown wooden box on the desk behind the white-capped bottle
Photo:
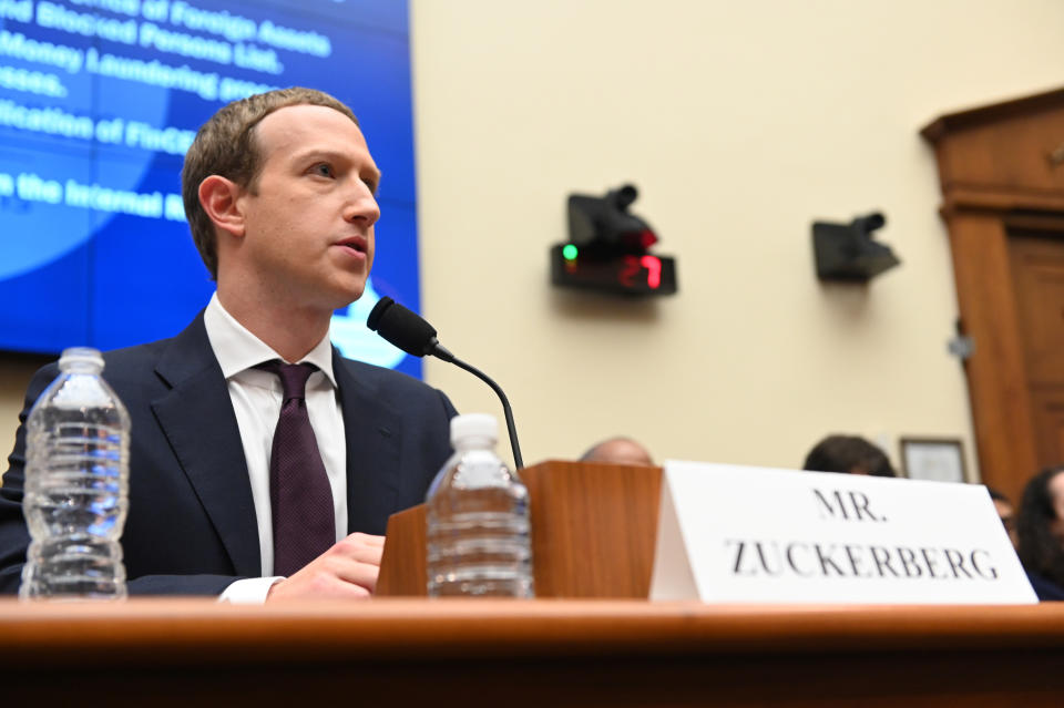
<instances>
[{"instance_id":1,"label":"brown wooden box on the desk behind the white-capped bottle","mask_svg":"<svg viewBox=\"0 0 1064 708\"><path fill-rule=\"evenodd\" d=\"M521 470L536 597L645 598L662 469L544 462ZM424 505L392 515L377 594L426 594Z\"/></svg>"}]
</instances>

